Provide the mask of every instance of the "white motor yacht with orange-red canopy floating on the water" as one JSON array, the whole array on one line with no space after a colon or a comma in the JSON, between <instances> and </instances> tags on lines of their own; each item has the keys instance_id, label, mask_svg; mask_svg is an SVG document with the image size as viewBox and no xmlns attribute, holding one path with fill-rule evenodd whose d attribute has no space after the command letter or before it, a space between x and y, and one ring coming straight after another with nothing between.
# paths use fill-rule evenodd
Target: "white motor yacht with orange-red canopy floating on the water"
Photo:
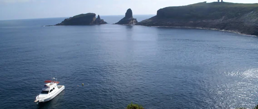
<instances>
[{"instance_id":1,"label":"white motor yacht with orange-red canopy floating on the water","mask_svg":"<svg viewBox=\"0 0 258 109\"><path fill-rule=\"evenodd\" d=\"M60 82L55 78L46 80L45 83L47 84L43 86L41 93L36 97L34 102L47 102L64 90L64 86L58 85Z\"/></svg>"}]
</instances>

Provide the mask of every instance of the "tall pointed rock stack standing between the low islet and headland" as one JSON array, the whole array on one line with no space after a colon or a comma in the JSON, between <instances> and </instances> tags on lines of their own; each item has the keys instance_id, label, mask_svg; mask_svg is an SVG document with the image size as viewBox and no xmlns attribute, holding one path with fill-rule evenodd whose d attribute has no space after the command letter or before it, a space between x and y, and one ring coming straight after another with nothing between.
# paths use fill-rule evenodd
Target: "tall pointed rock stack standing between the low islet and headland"
<instances>
[{"instance_id":1,"label":"tall pointed rock stack standing between the low islet and headland","mask_svg":"<svg viewBox=\"0 0 258 109\"><path fill-rule=\"evenodd\" d=\"M115 24L136 24L137 22L136 18L132 17L132 9L127 9L125 17Z\"/></svg>"}]
</instances>

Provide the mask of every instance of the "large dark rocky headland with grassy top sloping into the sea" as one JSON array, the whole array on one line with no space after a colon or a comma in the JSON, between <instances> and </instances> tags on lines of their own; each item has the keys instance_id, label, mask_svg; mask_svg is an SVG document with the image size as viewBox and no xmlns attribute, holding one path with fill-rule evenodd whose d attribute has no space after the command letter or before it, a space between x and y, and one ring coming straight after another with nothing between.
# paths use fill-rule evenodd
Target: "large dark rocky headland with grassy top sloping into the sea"
<instances>
[{"instance_id":1,"label":"large dark rocky headland with grassy top sloping into the sea","mask_svg":"<svg viewBox=\"0 0 258 109\"><path fill-rule=\"evenodd\" d=\"M196 3L165 7L136 25L215 28L258 36L258 3Z\"/></svg>"}]
</instances>

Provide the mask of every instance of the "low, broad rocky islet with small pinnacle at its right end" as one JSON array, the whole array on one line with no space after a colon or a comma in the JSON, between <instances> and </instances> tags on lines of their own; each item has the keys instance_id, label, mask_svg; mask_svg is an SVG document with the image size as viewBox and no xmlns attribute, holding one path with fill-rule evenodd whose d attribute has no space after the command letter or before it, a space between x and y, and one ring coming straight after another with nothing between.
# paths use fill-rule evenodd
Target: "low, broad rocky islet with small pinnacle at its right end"
<instances>
[{"instance_id":1,"label":"low, broad rocky islet with small pinnacle at its right end","mask_svg":"<svg viewBox=\"0 0 258 109\"><path fill-rule=\"evenodd\" d=\"M107 24L103 19L100 19L99 15L96 18L96 14L87 13L87 14L79 14L67 19L64 19L58 25L96 25L96 24Z\"/></svg>"}]
</instances>

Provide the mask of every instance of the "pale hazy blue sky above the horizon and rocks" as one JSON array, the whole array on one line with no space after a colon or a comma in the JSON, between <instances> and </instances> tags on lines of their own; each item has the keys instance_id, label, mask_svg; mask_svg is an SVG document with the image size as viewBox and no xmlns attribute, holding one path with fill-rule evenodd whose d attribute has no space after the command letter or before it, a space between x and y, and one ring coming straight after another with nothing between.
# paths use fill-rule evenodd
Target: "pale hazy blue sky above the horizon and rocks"
<instances>
[{"instance_id":1,"label":"pale hazy blue sky above the horizon and rocks","mask_svg":"<svg viewBox=\"0 0 258 109\"><path fill-rule=\"evenodd\" d=\"M100 16L157 14L169 6L182 6L217 0L0 0L0 20L72 17L95 13ZM223 0L233 3L258 3L258 0Z\"/></svg>"}]
</instances>

